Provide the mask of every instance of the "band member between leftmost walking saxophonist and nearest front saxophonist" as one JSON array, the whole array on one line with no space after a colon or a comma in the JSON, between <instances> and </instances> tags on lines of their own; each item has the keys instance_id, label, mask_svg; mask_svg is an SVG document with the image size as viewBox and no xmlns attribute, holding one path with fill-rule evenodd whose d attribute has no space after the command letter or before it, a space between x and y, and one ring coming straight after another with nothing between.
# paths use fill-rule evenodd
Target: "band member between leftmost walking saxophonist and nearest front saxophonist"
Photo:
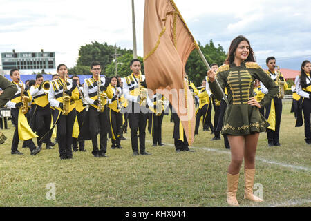
<instances>
[{"instance_id":1,"label":"band member between leftmost walking saxophonist and nearest front saxophonist","mask_svg":"<svg viewBox=\"0 0 311 221\"><path fill-rule=\"evenodd\" d=\"M35 85L30 87L30 95L33 98L34 105L32 106L32 113L30 116L30 126L34 128L34 131L37 132L37 144L41 148L42 143L46 143L46 149L52 149L50 146L50 137L52 133L49 133L44 137L44 140L41 138L50 131L50 122L51 122L51 111L50 103L48 102L48 95L41 88L42 83L44 82L43 75L39 74L36 76Z\"/></svg>"}]
</instances>

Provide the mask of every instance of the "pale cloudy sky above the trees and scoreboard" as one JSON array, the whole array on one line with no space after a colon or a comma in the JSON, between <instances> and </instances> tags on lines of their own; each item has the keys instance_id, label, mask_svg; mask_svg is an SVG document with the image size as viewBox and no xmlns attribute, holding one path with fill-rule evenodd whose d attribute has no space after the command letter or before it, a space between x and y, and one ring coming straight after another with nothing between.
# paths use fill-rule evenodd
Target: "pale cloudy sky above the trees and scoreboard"
<instances>
[{"instance_id":1,"label":"pale cloudy sky above the trees and scoreboard","mask_svg":"<svg viewBox=\"0 0 311 221\"><path fill-rule=\"evenodd\" d=\"M150 1L150 0L149 0ZM56 52L56 63L75 66L79 47L91 41L133 48L131 0L0 0L0 52ZM299 70L311 60L311 1L175 0L197 41L227 51L237 35L256 59L275 56L281 68ZM144 0L135 0L138 55L143 56Z\"/></svg>"}]
</instances>

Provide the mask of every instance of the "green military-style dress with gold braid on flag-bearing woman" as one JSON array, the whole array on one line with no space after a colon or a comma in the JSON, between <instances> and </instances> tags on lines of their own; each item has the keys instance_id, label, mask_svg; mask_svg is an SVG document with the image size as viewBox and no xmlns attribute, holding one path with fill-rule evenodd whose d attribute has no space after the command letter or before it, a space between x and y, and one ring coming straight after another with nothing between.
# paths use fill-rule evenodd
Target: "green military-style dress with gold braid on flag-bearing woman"
<instances>
[{"instance_id":1,"label":"green military-style dress with gold braid on flag-bearing woman","mask_svg":"<svg viewBox=\"0 0 311 221\"><path fill-rule=\"evenodd\" d=\"M227 135L249 135L264 132L269 125L256 106L247 104L249 97L254 97L254 80L263 82L269 92L259 104L265 106L278 93L279 87L255 62L242 62L224 65L218 68L217 80L221 88L227 88L229 106L225 111L221 133ZM221 99L221 89L216 81L209 82L211 92L216 99Z\"/></svg>"}]
</instances>

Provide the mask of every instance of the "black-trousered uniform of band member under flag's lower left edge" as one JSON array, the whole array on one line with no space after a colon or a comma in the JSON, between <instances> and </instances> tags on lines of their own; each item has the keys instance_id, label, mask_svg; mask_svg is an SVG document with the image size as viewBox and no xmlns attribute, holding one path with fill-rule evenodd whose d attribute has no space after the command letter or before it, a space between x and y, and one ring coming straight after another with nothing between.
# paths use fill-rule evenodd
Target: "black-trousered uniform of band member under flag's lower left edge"
<instances>
[{"instance_id":1,"label":"black-trousered uniform of band member under flag's lower left edge","mask_svg":"<svg viewBox=\"0 0 311 221\"><path fill-rule=\"evenodd\" d=\"M161 106L161 112L156 114L157 109L157 99L160 99L162 102L158 105ZM148 116L148 131L152 135L153 146L163 146L162 144L162 122L164 117L164 96L161 94L153 95L151 102L153 106L149 106L149 109L152 111Z\"/></svg>"}]
</instances>

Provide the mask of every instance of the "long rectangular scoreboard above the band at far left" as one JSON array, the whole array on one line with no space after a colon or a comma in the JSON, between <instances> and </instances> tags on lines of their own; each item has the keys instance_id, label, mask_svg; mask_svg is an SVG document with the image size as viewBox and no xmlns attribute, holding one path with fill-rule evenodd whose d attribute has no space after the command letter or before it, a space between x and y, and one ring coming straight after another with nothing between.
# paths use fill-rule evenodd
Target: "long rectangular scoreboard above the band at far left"
<instances>
[{"instance_id":1,"label":"long rectangular scoreboard above the band at far left","mask_svg":"<svg viewBox=\"0 0 311 221\"><path fill-rule=\"evenodd\" d=\"M55 52L3 52L2 69L35 70L55 69Z\"/></svg>"}]
</instances>

